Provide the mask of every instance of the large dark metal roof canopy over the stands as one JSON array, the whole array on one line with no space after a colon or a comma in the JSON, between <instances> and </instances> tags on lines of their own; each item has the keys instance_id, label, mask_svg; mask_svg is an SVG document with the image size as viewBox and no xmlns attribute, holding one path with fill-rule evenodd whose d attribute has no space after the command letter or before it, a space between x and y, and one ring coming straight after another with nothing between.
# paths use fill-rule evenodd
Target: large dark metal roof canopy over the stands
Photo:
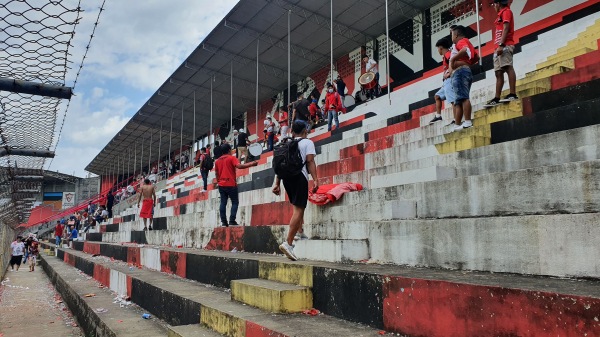
<instances>
[{"instance_id":1,"label":"large dark metal roof canopy over the stands","mask_svg":"<svg viewBox=\"0 0 600 337\"><path fill-rule=\"evenodd\" d=\"M441 0L389 0L390 27L412 19ZM384 0L334 0L333 51L336 59L385 33ZM196 138L210 129L213 85L213 128L230 121L230 74L233 65L233 116L256 105L256 44L259 43L259 103L287 88L287 22L290 15L291 83L328 67L330 2L323 0L241 0L188 58L160 86L131 120L86 167L96 174L131 173L140 161L147 166L169 150L193 141L193 96ZM183 132L181 114L183 108ZM162 122L162 136L159 137ZM150 135L152 144L150 144ZM141 156L142 143L144 147ZM137 154L134 154L137 145ZM134 159L137 161L134 163ZM115 162L119 158L118 167ZM141 159L140 159L141 158ZM124 163L124 164L123 164ZM137 171L137 170L136 170Z\"/></svg>"}]
</instances>

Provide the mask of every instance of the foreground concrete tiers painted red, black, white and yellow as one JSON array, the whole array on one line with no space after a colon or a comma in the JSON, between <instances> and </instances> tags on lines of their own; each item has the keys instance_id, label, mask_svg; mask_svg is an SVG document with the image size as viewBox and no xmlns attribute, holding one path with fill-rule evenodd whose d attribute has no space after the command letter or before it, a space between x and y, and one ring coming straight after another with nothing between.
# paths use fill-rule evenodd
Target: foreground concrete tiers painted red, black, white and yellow
<instances>
[{"instance_id":1,"label":"foreground concrete tiers painted red, black, white and yellow","mask_svg":"<svg viewBox=\"0 0 600 337\"><path fill-rule=\"evenodd\" d=\"M126 294L169 323L170 336L213 336L207 329L225 336L311 337L600 332L600 288L592 280L291 262L264 254L145 245L77 242L74 248L57 249L57 258L44 259L45 268L59 275L78 269ZM152 261L152 254L144 253L149 250L158 251L160 260ZM318 311L309 313L316 316L273 313L311 305Z\"/></svg>"}]
</instances>

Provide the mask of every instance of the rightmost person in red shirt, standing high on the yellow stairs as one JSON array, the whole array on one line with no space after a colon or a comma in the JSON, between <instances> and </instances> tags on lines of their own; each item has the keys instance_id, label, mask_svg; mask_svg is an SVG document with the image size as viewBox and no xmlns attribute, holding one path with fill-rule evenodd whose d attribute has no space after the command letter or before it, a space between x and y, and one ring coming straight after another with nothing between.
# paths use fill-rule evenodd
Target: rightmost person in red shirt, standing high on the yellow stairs
<instances>
[{"instance_id":1,"label":"rightmost person in red shirt, standing high on the yellow stairs","mask_svg":"<svg viewBox=\"0 0 600 337\"><path fill-rule=\"evenodd\" d=\"M510 102L519 99L516 91L517 74L513 67L513 53L515 51L515 18L508 6L509 0L494 0L494 9L498 12L496 18L496 34L494 36L494 72L496 73L496 96L485 105L486 108L493 107L499 103ZM504 87L504 73L508 75L508 87L510 93L500 99L502 87Z\"/></svg>"}]
</instances>

